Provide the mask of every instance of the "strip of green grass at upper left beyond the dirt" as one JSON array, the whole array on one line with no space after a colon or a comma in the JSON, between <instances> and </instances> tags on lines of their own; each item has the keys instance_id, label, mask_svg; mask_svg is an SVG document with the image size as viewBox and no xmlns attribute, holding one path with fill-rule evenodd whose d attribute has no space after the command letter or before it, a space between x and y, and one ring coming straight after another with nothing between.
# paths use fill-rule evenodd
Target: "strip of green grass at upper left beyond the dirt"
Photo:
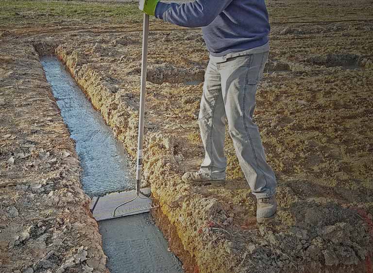
<instances>
[{"instance_id":1,"label":"strip of green grass at upper left beyond the dirt","mask_svg":"<svg viewBox=\"0 0 373 273\"><path fill-rule=\"evenodd\" d=\"M2 0L0 4L1 26L53 23L61 20L139 23L142 13L138 10L137 3Z\"/></svg>"}]
</instances>

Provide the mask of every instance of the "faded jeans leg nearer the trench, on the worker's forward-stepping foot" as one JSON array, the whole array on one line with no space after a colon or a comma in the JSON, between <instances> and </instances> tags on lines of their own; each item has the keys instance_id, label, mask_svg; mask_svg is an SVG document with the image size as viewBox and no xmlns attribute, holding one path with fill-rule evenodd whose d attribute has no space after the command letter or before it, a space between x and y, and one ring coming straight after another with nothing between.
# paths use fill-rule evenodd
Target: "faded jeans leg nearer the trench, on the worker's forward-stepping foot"
<instances>
[{"instance_id":1,"label":"faded jeans leg nearer the trench, on the worker's forward-stepping foot","mask_svg":"<svg viewBox=\"0 0 373 273\"><path fill-rule=\"evenodd\" d=\"M203 84L198 122L205 156L201 171L212 178L225 179L227 166L224 155L225 109L221 96L220 74L216 64L209 62Z\"/></svg>"}]
</instances>

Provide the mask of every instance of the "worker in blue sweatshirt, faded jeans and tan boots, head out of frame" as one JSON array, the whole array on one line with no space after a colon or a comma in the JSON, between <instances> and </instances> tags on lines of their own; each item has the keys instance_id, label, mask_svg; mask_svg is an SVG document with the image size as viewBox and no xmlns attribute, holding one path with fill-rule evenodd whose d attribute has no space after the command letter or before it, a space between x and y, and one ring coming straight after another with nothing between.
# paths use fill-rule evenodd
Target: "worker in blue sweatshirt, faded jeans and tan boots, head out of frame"
<instances>
[{"instance_id":1,"label":"worker in blue sweatshirt, faded jeans and tan boots, head out of frame","mask_svg":"<svg viewBox=\"0 0 373 273\"><path fill-rule=\"evenodd\" d=\"M241 169L257 199L256 221L275 217L276 178L267 164L253 121L255 93L269 55L270 24L264 0L195 0L163 3L139 0L148 15L183 27L202 27L210 59L199 125L205 157L199 171L182 180L194 185L225 184L225 118Z\"/></svg>"}]
</instances>

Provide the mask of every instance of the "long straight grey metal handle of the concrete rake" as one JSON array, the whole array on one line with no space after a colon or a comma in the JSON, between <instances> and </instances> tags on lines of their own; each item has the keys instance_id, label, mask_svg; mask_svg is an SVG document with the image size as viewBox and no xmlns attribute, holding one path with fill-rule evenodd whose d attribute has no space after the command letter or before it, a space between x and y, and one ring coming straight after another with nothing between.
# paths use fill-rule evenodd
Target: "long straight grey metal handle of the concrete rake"
<instances>
[{"instance_id":1,"label":"long straight grey metal handle of the concrete rake","mask_svg":"<svg viewBox=\"0 0 373 273\"><path fill-rule=\"evenodd\" d=\"M140 83L140 115L138 118L137 137L137 166L136 166L136 192L140 192L141 169L142 169L142 144L144 138L144 117L145 117L145 93L146 93L146 66L148 63L148 36L149 36L149 15L144 14L142 29L142 59L141 59L141 83Z\"/></svg>"}]
</instances>

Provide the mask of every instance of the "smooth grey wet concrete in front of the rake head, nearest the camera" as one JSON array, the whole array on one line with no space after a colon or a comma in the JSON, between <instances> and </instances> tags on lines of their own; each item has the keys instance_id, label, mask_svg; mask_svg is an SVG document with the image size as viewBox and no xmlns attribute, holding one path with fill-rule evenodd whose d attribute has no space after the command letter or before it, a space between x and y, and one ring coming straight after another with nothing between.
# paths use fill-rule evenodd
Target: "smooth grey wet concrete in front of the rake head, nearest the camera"
<instances>
[{"instance_id":1,"label":"smooth grey wet concrete in front of the rake head, nearest the camera","mask_svg":"<svg viewBox=\"0 0 373 273\"><path fill-rule=\"evenodd\" d=\"M110 273L181 273L149 213L99 222Z\"/></svg>"}]
</instances>

